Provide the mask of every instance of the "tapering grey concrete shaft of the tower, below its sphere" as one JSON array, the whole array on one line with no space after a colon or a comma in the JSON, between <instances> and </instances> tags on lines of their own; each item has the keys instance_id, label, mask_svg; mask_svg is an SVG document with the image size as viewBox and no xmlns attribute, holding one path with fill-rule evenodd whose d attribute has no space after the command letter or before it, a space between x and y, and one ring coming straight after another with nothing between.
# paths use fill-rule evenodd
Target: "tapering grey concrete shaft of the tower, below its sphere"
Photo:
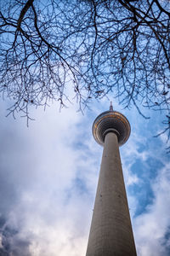
<instances>
[{"instance_id":1,"label":"tapering grey concrete shaft of the tower, below its sphere","mask_svg":"<svg viewBox=\"0 0 170 256\"><path fill-rule=\"evenodd\" d=\"M136 256L116 134L105 136L86 256Z\"/></svg>"}]
</instances>

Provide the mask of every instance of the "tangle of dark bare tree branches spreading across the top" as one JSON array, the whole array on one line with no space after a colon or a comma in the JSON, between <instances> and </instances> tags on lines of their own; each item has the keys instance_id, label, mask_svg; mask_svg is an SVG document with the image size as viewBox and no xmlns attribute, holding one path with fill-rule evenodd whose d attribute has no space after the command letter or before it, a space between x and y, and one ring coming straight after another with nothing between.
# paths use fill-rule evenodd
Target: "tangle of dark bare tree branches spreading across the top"
<instances>
[{"instance_id":1,"label":"tangle of dark bare tree branches spreading across the top","mask_svg":"<svg viewBox=\"0 0 170 256\"><path fill-rule=\"evenodd\" d=\"M9 113L29 117L31 106L74 98L82 109L111 95L141 115L140 106L163 112L168 134L169 17L167 0L8 0L0 93L14 101Z\"/></svg>"}]
</instances>

